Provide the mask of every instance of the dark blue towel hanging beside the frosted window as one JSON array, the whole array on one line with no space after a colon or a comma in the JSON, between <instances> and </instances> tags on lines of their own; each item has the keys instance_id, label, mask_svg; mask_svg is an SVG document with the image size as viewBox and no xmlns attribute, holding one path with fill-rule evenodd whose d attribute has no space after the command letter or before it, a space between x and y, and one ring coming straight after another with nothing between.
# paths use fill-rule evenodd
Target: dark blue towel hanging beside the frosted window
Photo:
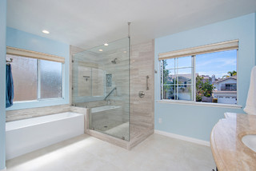
<instances>
[{"instance_id":1,"label":"dark blue towel hanging beside the frosted window","mask_svg":"<svg viewBox=\"0 0 256 171\"><path fill-rule=\"evenodd\" d=\"M6 65L6 108L13 105L14 100L14 81L11 74L11 66Z\"/></svg>"}]
</instances>

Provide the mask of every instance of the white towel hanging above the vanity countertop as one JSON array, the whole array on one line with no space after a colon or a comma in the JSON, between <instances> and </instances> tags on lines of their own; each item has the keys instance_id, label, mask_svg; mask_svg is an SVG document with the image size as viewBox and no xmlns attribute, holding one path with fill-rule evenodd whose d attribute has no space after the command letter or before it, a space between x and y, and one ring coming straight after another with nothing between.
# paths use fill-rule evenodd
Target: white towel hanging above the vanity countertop
<instances>
[{"instance_id":1,"label":"white towel hanging above the vanity countertop","mask_svg":"<svg viewBox=\"0 0 256 171\"><path fill-rule=\"evenodd\" d=\"M243 110L247 114L256 115L256 66L251 70L250 87L247 95L246 107Z\"/></svg>"}]
</instances>

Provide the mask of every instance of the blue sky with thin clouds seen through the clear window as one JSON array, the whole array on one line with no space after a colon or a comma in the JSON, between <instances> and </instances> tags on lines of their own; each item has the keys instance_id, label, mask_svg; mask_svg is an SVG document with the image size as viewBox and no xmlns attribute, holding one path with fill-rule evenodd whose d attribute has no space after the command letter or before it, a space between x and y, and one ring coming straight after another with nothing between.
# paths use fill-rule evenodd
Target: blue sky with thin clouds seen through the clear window
<instances>
[{"instance_id":1,"label":"blue sky with thin clouds seen through the clear window","mask_svg":"<svg viewBox=\"0 0 256 171\"><path fill-rule=\"evenodd\" d=\"M195 58L196 73L199 75L211 77L214 74L216 78L222 78L227 72L237 70L237 50L198 54ZM191 67L191 61L191 57L178 58L178 62L169 59L166 69L174 68L174 64L178 65L178 68ZM174 70L170 70L170 73L174 74ZM191 68L179 69L178 74L191 74Z\"/></svg>"}]
</instances>

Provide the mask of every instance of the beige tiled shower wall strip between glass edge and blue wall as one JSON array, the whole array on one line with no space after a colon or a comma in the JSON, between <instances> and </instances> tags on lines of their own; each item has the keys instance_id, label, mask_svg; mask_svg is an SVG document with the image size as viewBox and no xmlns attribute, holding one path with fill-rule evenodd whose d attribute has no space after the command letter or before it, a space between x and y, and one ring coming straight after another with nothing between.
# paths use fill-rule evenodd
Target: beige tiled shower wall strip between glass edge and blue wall
<instances>
[{"instance_id":1,"label":"beige tiled shower wall strip between glass edge and blue wall","mask_svg":"<svg viewBox=\"0 0 256 171\"><path fill-rule=\"evenodd\" d=\"M131 46L130 124L154 131L154 40ZM149 76L146 89L146 76ZM145 97L138 97L144 91Z\"/></svg>"}]
</instances>

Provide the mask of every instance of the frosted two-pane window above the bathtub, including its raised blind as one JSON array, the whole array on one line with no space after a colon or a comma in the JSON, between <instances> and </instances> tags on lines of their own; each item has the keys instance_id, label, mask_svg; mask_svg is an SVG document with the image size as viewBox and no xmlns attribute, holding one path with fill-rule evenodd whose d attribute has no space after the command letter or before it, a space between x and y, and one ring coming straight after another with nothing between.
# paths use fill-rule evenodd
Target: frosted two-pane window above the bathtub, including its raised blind
<instances>
[{"instance_id":1,"label":"frosted two-pane window above the bathtub, including its raised blind","mask_svg":"<svg viewBox=\"0 0 256 171\"><path fill-rule=\"evenodd\" d=\"M10 58L13 58L14 101L63 97L62 58L7 47L6 59Z\"/></svg>"}]
</instances>

